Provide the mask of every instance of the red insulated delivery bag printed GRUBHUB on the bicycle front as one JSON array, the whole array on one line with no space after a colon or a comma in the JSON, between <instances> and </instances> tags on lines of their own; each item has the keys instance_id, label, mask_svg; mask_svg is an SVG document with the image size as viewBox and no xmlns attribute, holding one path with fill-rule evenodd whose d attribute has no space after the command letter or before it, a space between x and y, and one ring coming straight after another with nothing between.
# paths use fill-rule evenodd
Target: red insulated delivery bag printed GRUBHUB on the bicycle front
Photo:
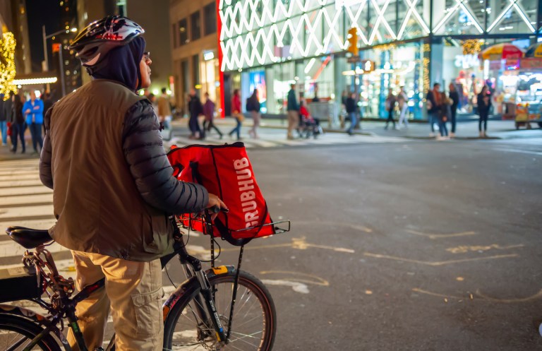
<instances>
[{"instance_id":1,"label":"red insulated delivery bag printed GRUBHUB on the bicycle front","mask_svg":"<svg viewBox=\"0 0 542 351\"><path fill-rule=\"evenodd\" d=\"M205 186L228 206L229 212L219 213L212 223L214 237L243 245L275 234L243 143L172 146L167 157L177 179ZM205 232L201 221L190 220L189 226Z\"/></svg>"}]
</instances>

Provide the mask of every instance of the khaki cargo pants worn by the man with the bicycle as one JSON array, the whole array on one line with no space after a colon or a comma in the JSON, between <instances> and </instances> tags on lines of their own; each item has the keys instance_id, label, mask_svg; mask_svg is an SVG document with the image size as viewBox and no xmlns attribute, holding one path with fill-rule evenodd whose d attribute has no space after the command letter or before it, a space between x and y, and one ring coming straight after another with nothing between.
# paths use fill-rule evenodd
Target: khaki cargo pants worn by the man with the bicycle
<instances>
[{"instance_id":1,"label":"khaki cargo pants worn by the man with the bicycle","mask_svg":"<svg viewBox=\"0 0 542 351\"><path fill-rule=\"evenodd\" d=\"M105 289L93 292L77 304L78 324L88 350L102 346L104 329L111 309L117 351L161 351L162 267L160 260L126 261L100 254L72 251L76 265L76 286L81 290L105 278ZM68 333L74 351L79 347Z\"/></svg>"}]
</instances>

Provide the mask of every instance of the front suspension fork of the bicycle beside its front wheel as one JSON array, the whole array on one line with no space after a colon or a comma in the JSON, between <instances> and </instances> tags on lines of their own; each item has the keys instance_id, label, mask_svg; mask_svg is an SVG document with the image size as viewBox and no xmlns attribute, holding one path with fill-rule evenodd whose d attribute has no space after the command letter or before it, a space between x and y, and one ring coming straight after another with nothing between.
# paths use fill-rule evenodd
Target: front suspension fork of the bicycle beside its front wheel
<instances>
[{"instance_id":1,"label":"front suspension fork of the bicycle beside its front wheel","mask_svg":"<svg viewBox=\"0 0 542 351\"><path fill-rule=\"evenodd\" d=\"M206 321L207 318L207 311L209 314L209 318L212 321L212 325L215 327L215 333L217 335L218 341L222 343L229 343L229 340L227 338L227 334L224 332L224 326L222 326L222 322L220 321L220 316L218 314L217 308L215 306L215 299L213 298L211 285L209 282L209 279L207 279L207 275L205 275L205 272L201 268L201 262L198 260L198 258L195 258L193 256L186 257L186 261L193 266L193 273L191 272L188 267L185 267L185 271L188 277L195 275L195 278L198 280L198 283L200 284L200 292L201 295L203 295L203 302L201 301L201 295L195 296L196 301L196 309L198 309L198 314L200 315L200 318L202 321ZM205 304L205 307L207 307L207 311L203 309L203 306Z\"/></svg>"}]
</instances>

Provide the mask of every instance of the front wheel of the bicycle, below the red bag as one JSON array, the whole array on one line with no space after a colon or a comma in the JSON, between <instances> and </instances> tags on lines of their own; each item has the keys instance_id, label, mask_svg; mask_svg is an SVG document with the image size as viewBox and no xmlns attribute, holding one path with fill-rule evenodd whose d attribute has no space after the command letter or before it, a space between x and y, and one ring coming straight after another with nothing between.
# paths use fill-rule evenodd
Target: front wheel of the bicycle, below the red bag
<instances>
[{"instance_id":1,"label":"front wheel of the bicycle, below the red bag","mask_svg":"<svg viewBox=\"0 0 542 351\"><path fill-rule=\"evenodd\" d=\"M235 274L233 271L209 278L215 292L215 307L226 332ZM164 325L164 350L272 350L277 331L277 312L269 290L258 278L242 270L239 273L234 319L227 345L217 343L211 321L201 321L194 313L197 304L194 299L198 294L198 282L192 280L169 312ZM260 319L262 330L258 331L258 328L253 327L258 323L252 322ZM200 347L197 347L198 344Z\"/></svg>"}]
</instances>

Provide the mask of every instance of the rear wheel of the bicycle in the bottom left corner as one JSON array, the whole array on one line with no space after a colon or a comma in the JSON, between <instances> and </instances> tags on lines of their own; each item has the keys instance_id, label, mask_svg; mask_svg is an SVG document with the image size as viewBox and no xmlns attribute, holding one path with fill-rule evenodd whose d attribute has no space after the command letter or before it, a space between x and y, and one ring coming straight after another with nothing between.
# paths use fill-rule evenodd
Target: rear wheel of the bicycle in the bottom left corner
<instances>
[{"instance_id":1,"label":"rear wheel of the bicycle in the bottom left corner","mask_svg":"<svg viewBox=\"0 0 542 351\"><path fill-rule=\"evenodd\" d=\"M15 349L23 350L25 345L42 331L42 326L28 319L13 314L0 314L0 351L7 350L16 341L26 338L28 341ZM61 351L61 347L52 335L45 335L32 350Z\"/></svg>"}]
</instances>

